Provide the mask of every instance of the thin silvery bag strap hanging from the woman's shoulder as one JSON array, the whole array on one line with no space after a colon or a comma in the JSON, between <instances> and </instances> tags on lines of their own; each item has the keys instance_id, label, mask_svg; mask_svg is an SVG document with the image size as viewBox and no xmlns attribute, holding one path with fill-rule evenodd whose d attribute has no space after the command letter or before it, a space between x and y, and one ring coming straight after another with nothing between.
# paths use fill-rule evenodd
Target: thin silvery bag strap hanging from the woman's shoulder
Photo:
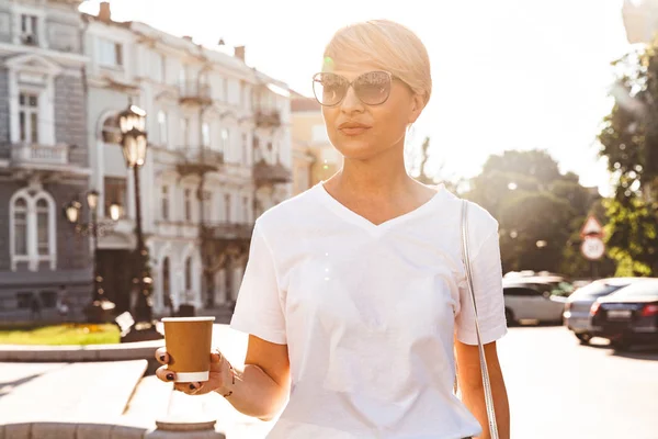
<instances>
[{"instance_id":1,"label":"thin silvery bag strap hanging from the woman's shoulder","mask_svg":"<svg viewBox=\"0 0 658 439\"><path fill-rule=\"evenodd\" d=\"M491 393L491 383L489 382L489 370L487 369L487 359L485 357L485 348L480 337L479 324L477 320L477 306L475 303L475 289L473 288L473 272L470 268L470 255L468 254L468 202L462 201L462 259L466 270L466 283L470 292L473 311L475 313L475 331L477 334L477 345L479 348L480 370L483 372L483 384L485 387L485 402L487 404L487 417L489 418L489 432L491 439L499 439L498 424L496 423L496 410L494 409L494 395Z\"/></svg>"}]
</instances>

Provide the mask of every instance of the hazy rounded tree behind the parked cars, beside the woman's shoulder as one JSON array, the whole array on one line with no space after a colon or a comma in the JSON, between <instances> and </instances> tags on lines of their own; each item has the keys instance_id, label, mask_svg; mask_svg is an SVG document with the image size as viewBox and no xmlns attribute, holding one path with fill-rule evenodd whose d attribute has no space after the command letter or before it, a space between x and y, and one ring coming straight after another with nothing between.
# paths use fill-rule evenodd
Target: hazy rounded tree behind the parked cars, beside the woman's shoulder
<instances>
[{"instance_id":1,"label":"hazy rounded tree behind the parked cars, beside the woman's shoulder","mask_svg":"<svg viewBox=\"0 0 658 439\"><path fill-rule=\"evenodd\" d=\"M466 196L499 221L504 271L589 275L579 230L599 193L583 188L575 173L560 173L546 151L508 150L489 157Z\"/></svg>"}]
</instances>

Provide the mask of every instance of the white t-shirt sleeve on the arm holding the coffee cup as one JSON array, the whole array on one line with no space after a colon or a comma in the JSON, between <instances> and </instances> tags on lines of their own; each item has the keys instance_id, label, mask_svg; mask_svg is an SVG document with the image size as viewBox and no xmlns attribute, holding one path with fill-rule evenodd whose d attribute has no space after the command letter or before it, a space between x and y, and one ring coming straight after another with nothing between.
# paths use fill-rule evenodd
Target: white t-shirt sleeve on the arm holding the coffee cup
<instances>
[{"instance_id":1,"label":"white t-shirt sleeve on the arm holding the coffee cup","mask_svg":"<svg viewBox=\"0 0 658 439\"><path fill-rule=\"evenodd\" d=\"M230 327L277 345L287 342L273 255L258 224Z\"/></svg>"}]
</instances>

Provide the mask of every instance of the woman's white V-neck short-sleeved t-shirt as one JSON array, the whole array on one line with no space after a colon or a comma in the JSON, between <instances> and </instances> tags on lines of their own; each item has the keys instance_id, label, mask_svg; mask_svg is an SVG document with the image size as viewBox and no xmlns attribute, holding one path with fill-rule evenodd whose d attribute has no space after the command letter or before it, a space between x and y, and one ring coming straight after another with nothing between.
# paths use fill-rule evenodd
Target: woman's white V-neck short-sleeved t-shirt
<instances>
[{"instance_id":1,"label":"woman's white V-neck short-sleeved t-shirt","mask_svg":"<svg viewBox=\"0 0 658 439\"><path fill-rule=\"evenodd\" d=\"M469 209L483 342L507 333L498 223ZM271 439L457 439L481 434L453 394L454 339L477 345L461 200L374 225L319 183L253 230L231 327L288 346L292 387Z\"/></svg>"}]
</instances>

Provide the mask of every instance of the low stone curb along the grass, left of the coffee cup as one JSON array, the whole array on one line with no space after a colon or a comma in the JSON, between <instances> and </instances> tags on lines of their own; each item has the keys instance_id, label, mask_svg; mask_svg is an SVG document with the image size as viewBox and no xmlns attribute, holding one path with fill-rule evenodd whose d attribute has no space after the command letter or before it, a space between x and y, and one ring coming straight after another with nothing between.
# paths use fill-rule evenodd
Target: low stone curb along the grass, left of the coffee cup
<instances>
[{"instance_id":1,"label":"low stone curb along the grass, left of the coffee cup","mask_svg":"<svg viewBox=\"0 0 658 439\"><path fill-rule=\"evenodd\" d=\"M0 345L0 362L151 361L162 346L163 339L87 346Z\"/></svg>"}]
</instances>

